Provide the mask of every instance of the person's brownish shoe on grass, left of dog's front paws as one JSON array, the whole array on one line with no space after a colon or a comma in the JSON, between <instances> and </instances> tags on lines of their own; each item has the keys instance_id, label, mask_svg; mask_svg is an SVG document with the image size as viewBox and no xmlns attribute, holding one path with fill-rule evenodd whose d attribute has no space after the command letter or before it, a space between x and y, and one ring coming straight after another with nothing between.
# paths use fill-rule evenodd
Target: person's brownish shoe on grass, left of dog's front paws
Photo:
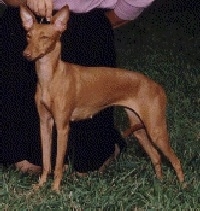
<instances>
[{"instance_id":1,"label":"person's brownish shoe on grass, left of dog's front paws","mask_svg":"<svg viewBox=\"0 0 200 211\"><path fill-rule=\"evenodd\" d=\"M15 163L15 167L17 171L21 171L23 173L39 173L41 172L41 166L34 165L27 160L22 160L20 162Z\"/></svg>"}]
</instances>

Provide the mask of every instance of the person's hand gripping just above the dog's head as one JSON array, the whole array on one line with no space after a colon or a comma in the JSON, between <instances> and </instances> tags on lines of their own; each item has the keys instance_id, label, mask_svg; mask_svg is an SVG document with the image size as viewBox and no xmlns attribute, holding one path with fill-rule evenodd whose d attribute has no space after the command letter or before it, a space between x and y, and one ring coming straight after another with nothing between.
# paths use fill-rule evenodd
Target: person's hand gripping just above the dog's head
<instances>
[{"instance_id":1,"label":"person's hand gripping just above the dog's head","mask_svg":"<svg viewBox=\"0 0 200 211\"><path fill-rule=\"evenodd\" d=\"M37 15L51 19L53 3L52 0L27 0L27 6Z\"/></svg>"}]
</instances>

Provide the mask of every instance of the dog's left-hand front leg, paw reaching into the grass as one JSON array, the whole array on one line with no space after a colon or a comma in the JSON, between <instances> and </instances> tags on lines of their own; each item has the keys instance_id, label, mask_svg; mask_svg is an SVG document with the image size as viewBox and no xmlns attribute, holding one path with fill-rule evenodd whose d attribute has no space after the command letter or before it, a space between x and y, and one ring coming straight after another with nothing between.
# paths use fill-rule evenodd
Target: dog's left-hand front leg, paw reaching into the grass
<instances>
[{"instance_id":1,"label":"dog's left-hand front leg, paw reaching into the grass","mask_svg":"<svg viewBox=\"0 0 200 211\"><path fill-rule=\"evenodd\" d=\"M38 112L40 117L40 138L43 160L43 172L39 179L39 183L34 185L37 190L46 182L48 173L51 172L51 142L52 142L52 127L54 124L53 118L46 107L38 102Z\"/></svg>"}]
</instances>

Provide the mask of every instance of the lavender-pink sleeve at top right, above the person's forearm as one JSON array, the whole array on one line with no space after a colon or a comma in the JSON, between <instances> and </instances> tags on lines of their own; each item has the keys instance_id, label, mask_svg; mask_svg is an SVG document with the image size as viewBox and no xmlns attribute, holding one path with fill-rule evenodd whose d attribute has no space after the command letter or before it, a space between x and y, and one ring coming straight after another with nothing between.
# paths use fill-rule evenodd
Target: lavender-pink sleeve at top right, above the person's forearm
<instances>
[{"instance_id":1,"label":"lavender-pink sleeve at top right, above the person's forearm","mask_svg":"<svg viewBox=\"0 0 200 211\"><path fill-rule=\"evenodd\" d=\"M122 20L134 20L154 0L117 0L115 14Z\"/></svg>"}]
</instances>

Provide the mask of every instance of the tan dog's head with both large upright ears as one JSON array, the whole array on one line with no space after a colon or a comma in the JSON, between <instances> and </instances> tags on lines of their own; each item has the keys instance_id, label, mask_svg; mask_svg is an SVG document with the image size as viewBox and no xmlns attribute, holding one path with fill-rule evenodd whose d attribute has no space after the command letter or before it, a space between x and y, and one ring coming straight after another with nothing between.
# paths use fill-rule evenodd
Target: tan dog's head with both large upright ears
<instances>
[{"instance_id":1,"label":"tan dog's head with both large upright ears","mask_svg":"<svg viewBox=\"0 0 200 211\"><path fill-rule=\"evenodd\" d=\"M20 6L22 24L27 31L27 48L23 55L28 60L36 60L49 53L60 40L60 36L67 28L69 8L64 6L50 21L50 24L38 24L34 14L26 6Z\"/></svg>"}]
</instances>

